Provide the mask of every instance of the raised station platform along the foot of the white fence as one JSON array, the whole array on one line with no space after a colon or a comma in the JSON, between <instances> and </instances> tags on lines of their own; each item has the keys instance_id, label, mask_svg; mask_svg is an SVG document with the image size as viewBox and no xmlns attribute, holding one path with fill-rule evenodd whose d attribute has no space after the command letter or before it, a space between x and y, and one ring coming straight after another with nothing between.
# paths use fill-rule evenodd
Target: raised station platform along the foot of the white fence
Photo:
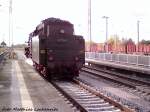
<instances>
[{"instance_id":1,"label":"raised station platform along the foot of the white fence","mask_svg":"<svg viewBox=\"0 0 150 112\"><path fill-rule=\"evenodd\" d=\"M150 67L144 67L144 66L136 66L136 65L130 65L130 64L123 64L123 63L115 63L111 61L103 61L103 60L94 60L94 59L86 59L85 60L88 63L98 64L98 65L104 65L112 68L119 68L124 70L129 70L133 72L139 72L150 75Z\"/></svg>"}]
</instances>

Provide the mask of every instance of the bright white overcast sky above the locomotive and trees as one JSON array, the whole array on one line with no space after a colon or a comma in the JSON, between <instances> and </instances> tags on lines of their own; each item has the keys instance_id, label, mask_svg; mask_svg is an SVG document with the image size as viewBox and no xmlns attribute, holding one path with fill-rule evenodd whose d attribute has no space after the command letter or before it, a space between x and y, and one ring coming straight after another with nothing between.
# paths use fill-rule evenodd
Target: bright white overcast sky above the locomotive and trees
<instances>
[{"instance_id":1,"label":"bright white overcast sky above the locomotive and trees","mask_svg":"<svg viewBox=\"0 0 150 112\"><path fill-rule=\"evenodd\" d=\"M24 43L41 20L48 17L66 19L75 26L75 33L88 40L88 0L12 0L13 42ZM149 0L91 0L92 40L105 41L105 20L108 16L108 36L137 41L137 20L140 21L140 40L150 40ZM9 0L0 0L0 42L8 44Z\"/></svg>"}]
</instances>

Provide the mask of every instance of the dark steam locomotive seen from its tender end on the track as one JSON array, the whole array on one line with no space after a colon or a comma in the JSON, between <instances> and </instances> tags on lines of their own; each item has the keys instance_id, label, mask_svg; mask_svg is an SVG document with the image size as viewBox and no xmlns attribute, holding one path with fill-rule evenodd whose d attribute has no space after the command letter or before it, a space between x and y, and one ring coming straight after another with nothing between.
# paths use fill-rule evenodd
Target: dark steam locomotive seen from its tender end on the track
<instances>
[{"instance_id":1,"label":"dark steam locomotive seen from its tender end on the track","mask_svg":"<svg viewBox=\"0 0 150 112\"><path fill-rule=\"evenodd\" d=\"M73 78L85 63L85 42L74 35L68 21L48 18L29 35L26 55L32 57L35 68L50 79Z\"/></svg>"}]
</instances>

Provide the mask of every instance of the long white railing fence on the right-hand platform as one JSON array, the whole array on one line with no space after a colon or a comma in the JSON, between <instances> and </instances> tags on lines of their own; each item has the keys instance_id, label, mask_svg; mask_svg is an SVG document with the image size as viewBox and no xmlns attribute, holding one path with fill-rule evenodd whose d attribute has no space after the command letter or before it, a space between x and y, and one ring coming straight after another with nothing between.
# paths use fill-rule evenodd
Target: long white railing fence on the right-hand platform
<instances>
[{"instance_id":1,"label":"long white railing fence on the right-hand platform","mask_svg":"<svg viewBox=\"0 0 150 112\"><path fill-rule=\"evenodd\" d=\"M87 59L150 67L150 56L85 52Z\"/></svg>"}]
</instances>

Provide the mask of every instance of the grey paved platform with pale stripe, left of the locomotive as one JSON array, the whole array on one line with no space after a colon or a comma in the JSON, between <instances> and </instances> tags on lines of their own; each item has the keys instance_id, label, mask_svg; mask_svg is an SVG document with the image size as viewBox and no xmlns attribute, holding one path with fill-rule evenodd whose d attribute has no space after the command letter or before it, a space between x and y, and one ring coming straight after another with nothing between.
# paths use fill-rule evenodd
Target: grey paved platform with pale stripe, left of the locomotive
<instances>
[{"instance_id":1,"label":"grey paved platform with pale stripe, left of the locomotive","mask_svg":"<svg viewBox=\"0 0 150 112\"><path fill-rule=\"evenodd\" d=\"M58 91L17 51L0 65L0 112L73 112ZM23 111L24 110L24 111Z\"/></svg>"}]
</instances>

